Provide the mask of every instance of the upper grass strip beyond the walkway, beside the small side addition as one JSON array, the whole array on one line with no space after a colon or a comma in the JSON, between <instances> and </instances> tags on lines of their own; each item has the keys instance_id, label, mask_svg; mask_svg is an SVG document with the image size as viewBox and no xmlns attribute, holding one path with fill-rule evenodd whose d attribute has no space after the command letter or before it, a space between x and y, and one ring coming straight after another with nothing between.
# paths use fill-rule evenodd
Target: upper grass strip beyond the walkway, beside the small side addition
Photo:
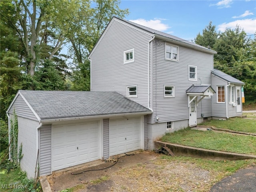
<instances>
[{"instance_id":1,"label":"upper grass strip beyond the walkway, beside the small side addition","mask_svg":"<svg viewBox=\"0 0 256 192\"><path fill-rule=\"evenodd\" d=\"M256 120L247 118L229 118L228 120L210 120L200 125L214 126L215 128L233 131L256 133Z\"/></svg>"}]
</instances>

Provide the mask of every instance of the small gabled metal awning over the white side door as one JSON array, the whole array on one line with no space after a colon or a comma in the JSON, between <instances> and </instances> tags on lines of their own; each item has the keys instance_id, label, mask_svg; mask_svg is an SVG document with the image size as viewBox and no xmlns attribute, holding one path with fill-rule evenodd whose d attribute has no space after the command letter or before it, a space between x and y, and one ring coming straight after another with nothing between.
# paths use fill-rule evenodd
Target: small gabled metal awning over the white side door
<instances>
[{"instance_id":1,"label":"small gabled metal awning over the white side door","mask_svg":"<svg viewBox=\"0 0 256 192\"><path fill-rule=\"evenodd\" d=\"M186 93L189 96L212 96L216 92L210 85L192 85Z\"/></svg>"}]
</instances>

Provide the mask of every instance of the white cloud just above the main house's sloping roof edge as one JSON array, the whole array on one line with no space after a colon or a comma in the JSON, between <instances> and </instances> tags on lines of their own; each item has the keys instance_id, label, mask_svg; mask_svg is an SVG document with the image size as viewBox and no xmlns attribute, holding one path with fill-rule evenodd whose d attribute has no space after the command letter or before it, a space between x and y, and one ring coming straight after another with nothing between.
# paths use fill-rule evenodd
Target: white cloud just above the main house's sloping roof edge
<instances>
[{"instance_id":1,"label":"white cloud just above the main house's sloping roof edge","mask_svg":"<svg viewBox=\"0 0 256 192\"><path fill-rule=\"evenodd\" d=\"M162 19L161 20L160 19L145 20L140 18L140 19L129 20L129 21L158 30L158 31L162 31L162 32L170 28L170 26L168 26L167 24L162 23Z\"/></svg>"}]
</instances>

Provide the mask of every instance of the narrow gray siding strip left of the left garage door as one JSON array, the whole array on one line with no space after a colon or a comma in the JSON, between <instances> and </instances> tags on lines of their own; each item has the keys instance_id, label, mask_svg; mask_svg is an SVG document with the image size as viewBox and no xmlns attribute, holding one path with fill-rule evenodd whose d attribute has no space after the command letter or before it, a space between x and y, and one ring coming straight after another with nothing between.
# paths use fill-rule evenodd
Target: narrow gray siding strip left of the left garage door
<instances>
[{"instance_id":1,"label":"narrow gray siding strip left of the left garage door","mask_svg":"<svg viewBox=\"0 0 256 192\"><path fill-rule=\"evenodd\" d=\"M52 125L40 128L40 176L52 174Z\"/></svg>"}]
</instances>

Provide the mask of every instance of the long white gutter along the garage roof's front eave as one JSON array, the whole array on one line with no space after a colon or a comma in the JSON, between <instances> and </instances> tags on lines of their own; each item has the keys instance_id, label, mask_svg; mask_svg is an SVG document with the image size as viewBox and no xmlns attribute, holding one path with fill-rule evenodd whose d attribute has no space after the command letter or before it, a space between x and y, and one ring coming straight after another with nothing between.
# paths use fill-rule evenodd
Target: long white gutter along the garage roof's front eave
<instances>
[{"instance_id":1,"label":"long white gutter along the garage roof's front eave","mask_svg":"<svg viewBox=\"0 0 256 192\"><path fill-rule=\"evenodd\" d=\"M70 120L84 120L84 119L94 119L94 118L108 118L108 117L116 117L116 116L146 115L151 113L152 111L138 112L138 113L120 113L120 114L106 114L106 115L94 115L94 116L82 116L82 117L68 117L68 118L59 118L59 119L40 120L40 123L51 123L51 122L61 122L61 121L70 121ZM40 128L40 126L38 128Z\"/></svg>"}]
</instances>

